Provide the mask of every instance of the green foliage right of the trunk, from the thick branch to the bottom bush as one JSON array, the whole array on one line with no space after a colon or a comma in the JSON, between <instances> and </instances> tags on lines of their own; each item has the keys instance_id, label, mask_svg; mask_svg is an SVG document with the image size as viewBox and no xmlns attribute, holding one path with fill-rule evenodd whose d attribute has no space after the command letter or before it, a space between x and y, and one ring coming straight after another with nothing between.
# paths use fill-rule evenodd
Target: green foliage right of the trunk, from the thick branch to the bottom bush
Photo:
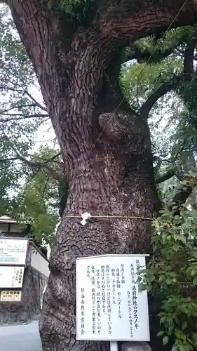
<instances>
[{"instance_id":1,"label":"green foliage right of the trunk, from the thick branch to the bottom bush","mask_svg":"<svg viewBox=\"0 0 197 351\"><path fill-rule=\"evenodd\" d=\"M189 44L191 38L196 40L196 27L175 29L157 41L149 38L136 43L140 48L138 62L132 60L123 65L121 74L125 95L135 111L139 111L149 95L165 81L182 72L186 43ZM170 56L165 58L169 52ZM158 185L164 208L154 221L153 256L144 270L142 289L148 289L160 304L158 337L163 339L163 345L168 345L167 350L172 351L197 348L196 189L190 196L188 193L184 206L172 207L179 189L187 192L190 180L196 185L195 60L196 52L192 79L182 81L175 89L176 94L157 100L149 114L155 175L170 168L175 173Z\"/></svg>"}]
</instances>

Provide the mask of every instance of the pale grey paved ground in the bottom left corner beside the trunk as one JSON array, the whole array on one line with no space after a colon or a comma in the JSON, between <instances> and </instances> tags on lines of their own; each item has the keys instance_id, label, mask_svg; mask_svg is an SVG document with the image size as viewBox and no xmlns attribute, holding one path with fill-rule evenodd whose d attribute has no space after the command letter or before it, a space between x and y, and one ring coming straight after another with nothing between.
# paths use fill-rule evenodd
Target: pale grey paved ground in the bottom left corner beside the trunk
<instances>
[{"instance_id":1,"label":"pale grey paved ground in the bottom left corner beside the trunk","mask_svg":"<svg viewBox=\"0 0 197 351\"><path fill-rule=\"evenodd\" d=\"M38 322L0 326L1 351L41 351Z\"/></svg>"}]
</instances>

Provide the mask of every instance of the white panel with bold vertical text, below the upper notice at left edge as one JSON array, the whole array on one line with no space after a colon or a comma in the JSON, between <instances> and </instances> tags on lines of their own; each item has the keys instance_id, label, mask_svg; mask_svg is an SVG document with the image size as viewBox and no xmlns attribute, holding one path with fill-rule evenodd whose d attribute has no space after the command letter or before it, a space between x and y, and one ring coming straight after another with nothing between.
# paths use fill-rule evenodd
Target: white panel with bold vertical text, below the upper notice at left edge
<instances>
[{"instance_id":1,"label":"white panel with bold vertical text, below the upper notice at left edge","mask_svg":"<svg viewBox=\"0 0 197 351\"><path fill-rule=\"evenodd\" d=\"M22 288L24 267L0 266L0 288Z\"/></svg>"}]
</instances>

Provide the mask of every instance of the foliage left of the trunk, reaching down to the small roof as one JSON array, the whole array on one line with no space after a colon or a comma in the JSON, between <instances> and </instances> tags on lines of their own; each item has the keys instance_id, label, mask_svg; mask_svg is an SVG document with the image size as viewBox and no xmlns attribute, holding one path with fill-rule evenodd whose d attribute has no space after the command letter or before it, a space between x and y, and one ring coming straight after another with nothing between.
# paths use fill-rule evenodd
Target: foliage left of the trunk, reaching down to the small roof
<instances>
[{"instance_id":1,"label":"foliage left of the trunk, reaching down to the small roof","mask_svg":"<svg viewBox=\"0 0 197 351\"><path fill-rule=\"evenodd\" d=\"M57 179L50 168L62 171L60 159L49 147L32 154L48 114L13 20L6 7L0 10L0 214L29 221L36 240L50 244L59 217Z\"/></svg>"}]
</instances>

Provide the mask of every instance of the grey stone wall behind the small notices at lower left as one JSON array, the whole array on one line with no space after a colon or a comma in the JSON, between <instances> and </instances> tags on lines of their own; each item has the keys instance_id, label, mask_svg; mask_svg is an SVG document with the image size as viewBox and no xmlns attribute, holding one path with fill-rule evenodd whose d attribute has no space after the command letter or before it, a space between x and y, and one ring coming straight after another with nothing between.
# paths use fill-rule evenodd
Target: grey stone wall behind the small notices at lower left
<instances>
[{"instance_id":1,"label":"grey stone wall behind the small notices at lower left","mask_svg":"<svg viewBox=\"0 0 197 351\"><path fill-rule=\"evenodd\" d=\"M25 267L22 298L18 303L0 302L0 324L27 323L41 312L41 293L47 278L31 266Z\"/></svg>"}]
</instances>

